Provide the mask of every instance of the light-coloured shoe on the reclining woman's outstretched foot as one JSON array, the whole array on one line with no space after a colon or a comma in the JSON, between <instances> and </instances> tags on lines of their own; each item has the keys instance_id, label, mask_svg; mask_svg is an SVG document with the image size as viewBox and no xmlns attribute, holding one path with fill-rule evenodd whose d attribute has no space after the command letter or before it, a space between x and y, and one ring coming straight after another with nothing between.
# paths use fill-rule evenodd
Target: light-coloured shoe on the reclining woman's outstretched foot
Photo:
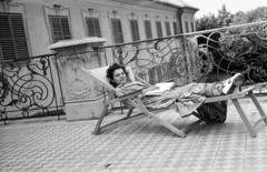
<instances>
[{"instance_id":1,"label":"light-coloured shoe on the reclining woman's outstretched foot","mask_svg":"<svg viewBox=\"0 0 267 172\"><path fill-rule=\"evenodd\" d=\"M224 94L233 93L235 88L237 88L238 85L240 85L243 83L243 80L244 80L244 78L243 78L241 73L236 73L231 78L225 80L222 83L222 85L224 85L222 93Z\"/></svg>"}]
</instances>

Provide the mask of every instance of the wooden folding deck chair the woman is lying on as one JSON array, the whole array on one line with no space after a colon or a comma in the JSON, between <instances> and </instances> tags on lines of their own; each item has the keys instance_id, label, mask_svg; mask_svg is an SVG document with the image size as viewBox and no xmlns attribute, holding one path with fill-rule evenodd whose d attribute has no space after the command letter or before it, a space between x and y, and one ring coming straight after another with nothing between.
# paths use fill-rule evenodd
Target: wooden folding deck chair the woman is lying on
<instances>
[{"instance_id":1,"label":"wooden folding deck chair the woman is lying on","mask_svg":"<svg viewBox=\"0 0 267 172\"><path fill-rule=\"evenodd\" d=\"M106 72L107 72L108 67L101 67L101 68L97 68L97 69L91 69L91 70L87 70L87 69L81 69L81 71L83 71L86 74L89 74L90 77L92 77L93 79L96 79L96 81L100 82L109 92L108 94L108 99L106 99L105 101L105 105L102 109L102 112L96 123L96 127L92 131L92 134L99 134L106 130L109 130L111 128L115 127L119 127L119 125L123 125L127 123L130 123L135 120L139 120L142 118L150 118L152 120L155 120L157 123L161 124L162 127L165 127L166 129L168 129L169 131L174 132L176 135L185 138L186 136L186 131L178 129L176 127L174 127L170 122L167 122L162 119L160 119L157 113L160 113L165 110L157 110L157 111L149 111L146 105L142 103L142 101L140 100L140 95L144 93L142 90L138 90L135 92L131 92L129 94L125 94L122 97L118 97L115 98L113 97L113 92L115 92L115 88L109 83L108 79L106 78ZM126 68L129 74L129 78L131 81L136 81L136 80L141 80L140 78L138 78L137 75L134 74L131 68L127 67ZM145 81L142 81L145 82ZM257 98L255 97L253 90L255 89L255 87L249 87L247 89L244 89L237 93L233 93L233 94L228 94L228 95L220 95L220 97L214 97L214 98L208 98L206 99L205 103L211 103L211 102L218 102L218 101L226 101L226 100L231 100L234 105L236 107L244 124L246 125L250 136L256 136L256 131L255 131L255 127L260 122L264 121L265 124L267 124L267 117L263 110L263 108L260 107ZM253 125L249 120L247 119L244 110L241 109L241 105L238 101L238 99L243 99L249 97L253 100L253 103L256 105L256 108L259 111L259 114L261 115L261 118ZM103 119L108 114L109 112L109 107L118 103L118 102L127 102L127 107L128 107L128 113L126 114L125 118L121 118L119 120L116 120L113 122L107 123L102 125ZM139 110L140 113L137 114L132 114L134 109ZM188 115L186 115L188 117ZM186 118L184 117L184 118ZM200 120L196 121L195 123L199 123L201 122ZM192 123L192 124L195 124Z\"/></svg>"}]
</instances>

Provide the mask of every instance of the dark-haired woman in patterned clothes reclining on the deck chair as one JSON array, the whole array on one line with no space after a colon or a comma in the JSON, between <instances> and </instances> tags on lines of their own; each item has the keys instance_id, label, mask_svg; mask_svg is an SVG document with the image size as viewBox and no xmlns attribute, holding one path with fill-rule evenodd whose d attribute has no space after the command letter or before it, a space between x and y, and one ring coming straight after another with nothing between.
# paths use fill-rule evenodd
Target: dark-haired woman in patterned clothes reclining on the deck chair
<instances>
[{"instance_id":1,"label":"dark-haired woman in patterned clothes reclining on the deck chair","mask_svg":"<svg viewBox=\"0 0 267 172\"><path fill-rule=\"evenodd\" d=\"M152 87L142 81L131 81L123 65L113 63L107 70L110 84L116 88L116 95L120 97L136 90L149 91ZM204 104L206 98L229 94L243 81L243 75L236 73L234 77L214 83L189 83L182 87L174 87L158 95L146 95L141 98L148 109L169 108L176 103L180 115L192 113L206 122L225 122L227 104L225 101Z\"/></svg>"}]
</instances>

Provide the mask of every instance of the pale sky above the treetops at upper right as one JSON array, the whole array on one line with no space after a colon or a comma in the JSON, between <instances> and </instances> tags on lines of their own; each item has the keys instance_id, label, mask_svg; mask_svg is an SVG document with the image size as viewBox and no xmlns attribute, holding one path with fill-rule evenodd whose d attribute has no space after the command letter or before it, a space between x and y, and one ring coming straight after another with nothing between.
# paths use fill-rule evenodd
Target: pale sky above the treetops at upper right
<instances>
[{"instance_id":1,"label":"pale sky above the treetops at upper right","mask_svg":"<svg viewBox=\"0 0 267 172\"><path fill-rule=\"evenodd\" d=\"M186 3L191 4L199 10L195 14L197 19L204 14L214 13L218 14L218 10L222 4L226 4L226 10L231 13L237 11L250 11L258 7L267 7L267 0L184 0Z\"/></svg>"}]
</instances>

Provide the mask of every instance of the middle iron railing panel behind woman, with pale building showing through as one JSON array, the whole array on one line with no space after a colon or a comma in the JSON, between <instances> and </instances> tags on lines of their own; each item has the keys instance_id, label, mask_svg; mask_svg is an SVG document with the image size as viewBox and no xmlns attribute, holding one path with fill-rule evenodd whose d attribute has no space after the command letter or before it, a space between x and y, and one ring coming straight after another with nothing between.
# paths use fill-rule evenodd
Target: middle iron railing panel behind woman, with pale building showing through
<instances>
[{"instance_id":1,"label":"middle iron railing panel behind woman, with pale building showing through","mask_svg":"<svg viewBox=\"0 0 267 172\"><path fill-rule=\"evenodd\" d=\"M135 72L150 83L168 80L188 82L184 38L157 39L112 47L113 61L131 65Z\"/></svg>"}]
</instances>

